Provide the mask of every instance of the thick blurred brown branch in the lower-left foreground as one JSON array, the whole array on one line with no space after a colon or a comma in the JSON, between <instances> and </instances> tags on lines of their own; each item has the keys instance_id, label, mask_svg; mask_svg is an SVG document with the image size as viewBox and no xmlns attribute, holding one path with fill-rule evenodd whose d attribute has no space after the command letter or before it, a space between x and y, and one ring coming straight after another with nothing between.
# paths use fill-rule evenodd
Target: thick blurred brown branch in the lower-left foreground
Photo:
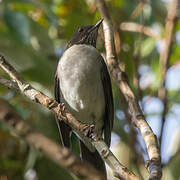
<instances>
[{"instance_id":1,"label":"thick blurred brown branch in the lower-left foreground","mask_svg":"<svg viewBox=\"0 0 180 180\"><path fill-rule=\"evenodd\" d=\"M25 122L14 108L0 99L0 122L5 122L10 129L22 137L29 145L41 151L49 159L76 174L80 179L104 180L105 177L91 165L82 162L69 149L56 144L54 141L35 131Z\"/></svg>"}]
</instances>

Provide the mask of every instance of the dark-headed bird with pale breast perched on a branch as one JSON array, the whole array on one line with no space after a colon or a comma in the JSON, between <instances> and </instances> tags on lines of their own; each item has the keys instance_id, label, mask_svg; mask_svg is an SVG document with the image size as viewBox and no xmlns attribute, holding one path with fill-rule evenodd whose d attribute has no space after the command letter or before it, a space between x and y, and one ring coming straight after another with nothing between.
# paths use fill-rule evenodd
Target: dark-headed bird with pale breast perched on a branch
<instances>
[{"instance_id":1,"label":"dark-headed bird with pale breast perched on a branch","mask_svg":"<svg viewBox=\"0 0 180 180\"><path fill-rule=\"evenodd\" d=\"M111 79L106 63L96 49L98 29L103 19L94 25L81 26L67 43L56 73L54 94L58 103L80 122L93 125L93 131L110 146L114 119ZM57 120L62 144L71 148L73 130ZM79 138L83 161L106 174L105 163L97 150Z\"/></svg>"}]
</instances>

